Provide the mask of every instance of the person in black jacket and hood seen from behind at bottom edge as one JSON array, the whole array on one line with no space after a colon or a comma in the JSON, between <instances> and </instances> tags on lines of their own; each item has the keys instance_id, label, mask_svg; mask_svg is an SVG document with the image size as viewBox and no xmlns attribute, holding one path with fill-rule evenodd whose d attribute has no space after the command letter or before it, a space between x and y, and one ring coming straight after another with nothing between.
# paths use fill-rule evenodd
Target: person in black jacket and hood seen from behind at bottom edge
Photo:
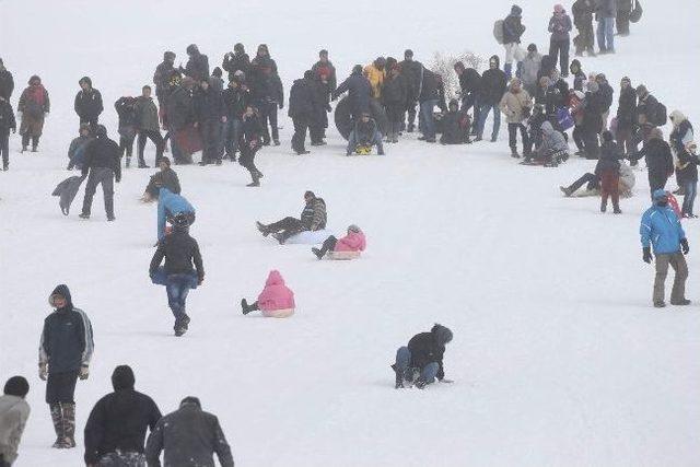
<instances>
[{"instance_id":1,"label":"person in black jacket and hood seen from behind at bottom edge","mask_svg":"<svg viewBox=\"0 0 700 467\"><path fill-rule=\"evenodd\" d=\"M114 393L95 404L85 423L85 465L145 463L145 431L162 416L153 399L133 389L135 382L130 366L114 369Z\"/></svg>"}]
</instances>

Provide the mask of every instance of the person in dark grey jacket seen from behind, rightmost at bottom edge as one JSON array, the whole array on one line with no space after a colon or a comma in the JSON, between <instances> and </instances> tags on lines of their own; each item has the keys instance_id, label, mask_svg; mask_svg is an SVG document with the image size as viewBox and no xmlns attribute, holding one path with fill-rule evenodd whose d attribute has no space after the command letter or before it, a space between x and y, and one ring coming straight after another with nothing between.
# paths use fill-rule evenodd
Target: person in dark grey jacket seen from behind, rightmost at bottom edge
<instances>
[{"instance_id":1,"label":"person in dark grey jacket seen from behind, rightmost at bottom edge","mask_svg":"<svg viewBox=\"0 0 700 467\"><path fill-rule=\"evenodd\" d=\"M166 467L214 467L214 453L221 467L234 467L219 419L205 412L197 397L184 398L178 410L158 422L145 443L149 467L161 467L162 451Z\"/></svg>"}]
</instances>

